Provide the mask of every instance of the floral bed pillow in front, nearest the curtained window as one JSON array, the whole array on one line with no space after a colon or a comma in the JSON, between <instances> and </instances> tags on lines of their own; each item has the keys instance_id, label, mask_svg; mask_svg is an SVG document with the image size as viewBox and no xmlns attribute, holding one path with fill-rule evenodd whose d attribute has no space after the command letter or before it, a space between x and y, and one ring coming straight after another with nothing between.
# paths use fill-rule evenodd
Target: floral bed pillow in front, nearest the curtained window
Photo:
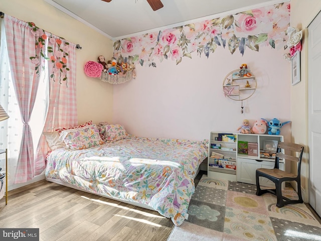
<instances>
[{"instance_id":1,"label":"floral bed pillow in front, nearest the curtained window","mask_svg":"<svg viewBox=\"0 0 321 241\"><path fill-rule=\"evenodd\" d=\"M104 143L99 136L96 125L88 128L68 129L61 132L59 140L63 140L69 149L80 150L95 147Z\"/></svg>"}]
</instances>

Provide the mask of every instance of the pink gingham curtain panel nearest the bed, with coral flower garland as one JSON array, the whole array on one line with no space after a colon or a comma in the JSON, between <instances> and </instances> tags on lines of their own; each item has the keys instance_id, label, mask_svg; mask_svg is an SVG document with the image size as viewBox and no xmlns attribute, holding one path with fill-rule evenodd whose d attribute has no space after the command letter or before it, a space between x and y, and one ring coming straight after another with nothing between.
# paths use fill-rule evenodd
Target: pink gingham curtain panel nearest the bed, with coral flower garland
<instances>
[{"instance_id":1,"label":"pink gingham curtain panel nearest the bed, with coral flower garland","mask_svg":"<svg viewBox=\"0 0 321 241\"><path fill-rule=\"evenodd\" d=\"M44 132L77 125L76 105L76 46L46 32L48 36L49 107ZM46 167L50 151L44 135L41 136L35 160L36 175Z\"/></svg>"}]
</instances>

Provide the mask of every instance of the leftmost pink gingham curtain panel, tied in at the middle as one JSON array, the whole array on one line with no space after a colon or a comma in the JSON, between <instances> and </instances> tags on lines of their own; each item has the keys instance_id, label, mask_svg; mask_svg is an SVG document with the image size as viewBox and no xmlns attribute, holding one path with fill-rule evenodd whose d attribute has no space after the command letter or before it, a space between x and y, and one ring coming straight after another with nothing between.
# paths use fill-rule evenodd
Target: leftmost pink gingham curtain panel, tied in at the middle
<instances>
[{"instance_id":1,"label":"leftmost pink gingham curtain panel, tied in at the middle","mask_svg":"<svg viewBox=\"0 0 321 241\"><path fill-rule=\"evenodd\" d=\"M41 32L36 33L28 23L8 15L5 15L5 28L11 74L24 124L15 183L23 183L35 176L34 148L29 120L43 64L42 43L35 44L35 38L37 39Z\"/></svg>"}]
</instances>

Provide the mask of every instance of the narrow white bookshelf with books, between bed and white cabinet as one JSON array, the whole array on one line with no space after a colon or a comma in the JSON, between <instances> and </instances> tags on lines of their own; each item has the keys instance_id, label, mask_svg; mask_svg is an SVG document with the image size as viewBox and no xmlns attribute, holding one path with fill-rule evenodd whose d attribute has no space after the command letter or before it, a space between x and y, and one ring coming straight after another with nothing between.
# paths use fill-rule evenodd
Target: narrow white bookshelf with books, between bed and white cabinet
<instances>
[{"instance_id":1,"label":"narrow white bookshelf with books, between bed and white cabinet","mask_svg":"<svg viewBox=\"0 0 321 241\"><path fill-rule=\"evenodd\" d=\"M215 164L215 159L212 158L212 152L219 153L227 157L228 161L235 163L236 166L236 144L237 142L223 142L218 141L219 134L232 134L236 136L236 133L233 132L211 132L209 138L209 157L208 157L208 165L207 165L207 176L209 178L221 178L230 181L236 181L236 170L230 168L219 168L213 167L211 165ZM211 148L211 144L219 144L221 148L229 148L233 150L224 150L224 149L215 149ZM223 158L225 159L225 158Z\"/></svg>"}]
</instances>

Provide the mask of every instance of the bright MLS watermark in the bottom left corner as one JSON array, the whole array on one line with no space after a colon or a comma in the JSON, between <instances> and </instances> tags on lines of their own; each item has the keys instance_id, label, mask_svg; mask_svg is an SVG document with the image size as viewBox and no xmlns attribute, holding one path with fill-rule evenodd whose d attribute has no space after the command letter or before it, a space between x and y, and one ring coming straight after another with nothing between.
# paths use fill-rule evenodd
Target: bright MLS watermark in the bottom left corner
<instances>
[{"instance_id":1,"label":"bright MLS watermark in the bottom left corner","mask_svg":"<svg viewBox=\"0 0 321 241\"><path fill-rule=\"evenodd\" d=\"M2 241L39 241L39 228L0 228Z\"/></svg>"}]
</instances>

